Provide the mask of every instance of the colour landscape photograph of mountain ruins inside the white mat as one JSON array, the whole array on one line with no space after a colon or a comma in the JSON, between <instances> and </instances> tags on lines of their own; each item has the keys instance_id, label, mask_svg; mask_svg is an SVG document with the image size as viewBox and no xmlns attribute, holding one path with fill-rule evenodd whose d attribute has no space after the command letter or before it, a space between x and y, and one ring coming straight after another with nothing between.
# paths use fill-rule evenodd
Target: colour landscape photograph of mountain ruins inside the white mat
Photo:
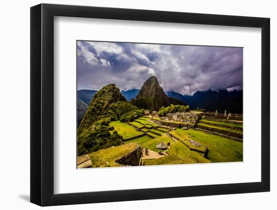
<instances>
[{"instance_id":1,"label":"colour landscape photograph of mountain ruins inside the white mat","mask_svg":"<svg viewBox=\"0 0 277 210\"><path fill-rule=\"evenodd\" d=\"M77 168L243 161L243 47L77 40Z\"/></svg>"}]
</instances>

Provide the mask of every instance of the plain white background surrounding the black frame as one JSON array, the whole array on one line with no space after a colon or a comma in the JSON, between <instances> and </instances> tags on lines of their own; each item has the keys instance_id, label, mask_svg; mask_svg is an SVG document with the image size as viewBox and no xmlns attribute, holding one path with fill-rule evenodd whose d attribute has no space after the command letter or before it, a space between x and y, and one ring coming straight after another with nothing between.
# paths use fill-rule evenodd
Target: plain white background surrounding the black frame
<instances>
[{"instance_id":1,"label":"plain white background surrounding the black frame","mask_svg":"<svg viewBox=\"0 0 277 210\"><path fill-rule=\"evenodd\" d=\"M2 209L38 209L29 203L30 191L30 7L40 1L5 1L1 4L1 47L0 47L0 206ZM47 1L44 3L70 4L100 7L164 10L222 15L269 17L271 19L271 130L276 126L277 79L273 60L277 49L274 39L277 30L277 13L274 1ZM274 96L275 95L275 96ZM254 103L254 100L253 100ZM275 117L275 119L274 119ZM190 198L98 203L85 205L55 206L49 209L142 209L142 208L187 208L187 209L274 209L277 204L277 147L276 133L271 133L271 192L202 196ZM196 207L196 205L203 207Z\"/></svg>"}]
</instances>

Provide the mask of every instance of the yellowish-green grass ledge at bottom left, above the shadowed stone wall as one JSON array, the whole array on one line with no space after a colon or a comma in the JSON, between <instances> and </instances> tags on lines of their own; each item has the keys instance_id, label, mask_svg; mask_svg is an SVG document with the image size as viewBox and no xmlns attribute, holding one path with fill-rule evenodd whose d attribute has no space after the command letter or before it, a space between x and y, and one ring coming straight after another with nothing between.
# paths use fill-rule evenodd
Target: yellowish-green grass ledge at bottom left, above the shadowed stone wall
<instances>
[{"instance_id":1,"label":"yellowish-green grass ledge at bottom left, above the shadowed stone wall","mask_svg":"<svg viewBox=\"0 0 277 210\"><path fill-rule=\"evenodd\" d=\"M99 150L88 155L93 168L122 166L114 161L133 151L136 147L136 143L131 143Z\"/></svg>"}]
</instances>

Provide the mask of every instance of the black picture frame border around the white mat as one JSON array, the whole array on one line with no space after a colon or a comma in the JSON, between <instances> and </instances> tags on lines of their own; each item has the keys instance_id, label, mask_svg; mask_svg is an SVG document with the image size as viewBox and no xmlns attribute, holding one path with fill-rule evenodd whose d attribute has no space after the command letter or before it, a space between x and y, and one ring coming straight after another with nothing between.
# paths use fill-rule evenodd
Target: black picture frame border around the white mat
<instances>
[{"instance_id":1,"label":"black picture frame border around the white mat","mask_svg":"<svg viewBox=\"0 0 277 210\"><path fill-rule=\"evenodd\" d=\"M261 28L261 182L54 194L54 16ZM40 4L31 8L31 202L62 205L270 190L270 19Z\"/></svg>"}]
</instances>

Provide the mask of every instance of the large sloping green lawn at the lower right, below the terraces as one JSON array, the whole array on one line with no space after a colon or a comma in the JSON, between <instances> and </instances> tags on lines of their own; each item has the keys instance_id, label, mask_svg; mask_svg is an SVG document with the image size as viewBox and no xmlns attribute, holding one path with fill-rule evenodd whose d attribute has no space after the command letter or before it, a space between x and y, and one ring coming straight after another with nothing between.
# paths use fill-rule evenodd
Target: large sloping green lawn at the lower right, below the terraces
<instances>
[{"instance_id":1,"label":"large sloping green lawn at the lower right, below the terraces","mask_svg":"<svg viewBox=\"0 0 277 210\"><path fill-rule=\"evenodd\" d=\"M193 129L176 129L175 132L182 137L190 136L203 147L208 147L210 150L208 157L211 162L243 161L243 145L240 142Z\"/></svg>"}]
</instances>

